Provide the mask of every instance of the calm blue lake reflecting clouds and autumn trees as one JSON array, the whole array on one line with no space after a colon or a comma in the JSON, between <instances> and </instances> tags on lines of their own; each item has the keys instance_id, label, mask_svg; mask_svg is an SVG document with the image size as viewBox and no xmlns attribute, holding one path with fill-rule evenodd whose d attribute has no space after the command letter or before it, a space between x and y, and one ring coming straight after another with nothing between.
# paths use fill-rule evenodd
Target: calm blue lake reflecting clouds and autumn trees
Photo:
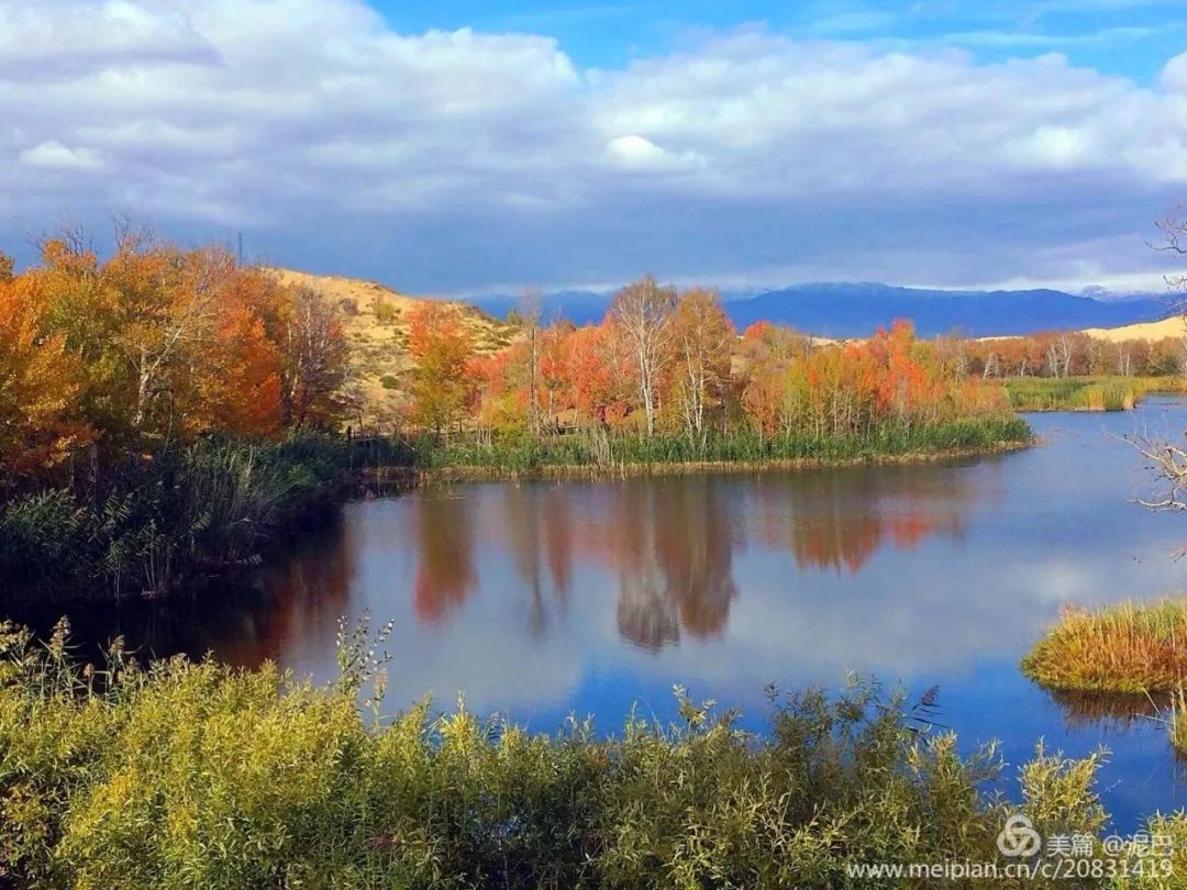
<instances>
[{"instance_id":1,"label":"calm blue lake reflecting clouds and autumn trees","mask_svg":"<svg viewBox=\"0 0 1187 890\"><path fill-rule=\"evenodd\" d=\"M1103 796L1132 827L1187 803L1164 726L1017 665L1064 604L1185 586L1187 517L1131 502L1151 482L1118 437L1181 436L1187 406L1029 419L1037 447L945 464L427 487L345 506L229 603L76 624L324 680L338 617L369 612L394 621L388 710L464 694L540 731L669 719L675 684L758 730L768 684L935 686L934 720L965 750L1001 739L1011 778L1039 738L1111 749Z\"/></svg>"}]
</instances>

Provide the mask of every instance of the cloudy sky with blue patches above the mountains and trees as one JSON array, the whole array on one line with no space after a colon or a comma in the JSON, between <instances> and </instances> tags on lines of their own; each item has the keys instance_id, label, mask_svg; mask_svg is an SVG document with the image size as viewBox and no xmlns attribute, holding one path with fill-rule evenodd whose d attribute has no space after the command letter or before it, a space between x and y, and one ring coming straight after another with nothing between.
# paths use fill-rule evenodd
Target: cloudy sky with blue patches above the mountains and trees
<instances>
[{"instance_id":1,"label":"cloudy sky with blue patches above the mountains and trees","mask_svg":"<svg viewBox=\"0 0 1187 890\"><path fill-rule=\"evenodd\" d=\"M1164 290L1181 0L0 0L0 249L415 293Z\"/></svg>"}]
</instances>

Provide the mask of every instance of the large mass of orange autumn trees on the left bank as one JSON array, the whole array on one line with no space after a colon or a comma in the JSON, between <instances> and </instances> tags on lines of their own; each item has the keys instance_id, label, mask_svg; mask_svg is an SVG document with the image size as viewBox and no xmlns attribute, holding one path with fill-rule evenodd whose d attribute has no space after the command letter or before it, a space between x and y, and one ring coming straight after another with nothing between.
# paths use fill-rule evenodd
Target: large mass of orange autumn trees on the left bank
<instances>
[{"instance_id":1,"label":"large mass of orange autumn trees on the left bank","mask_svg":"<svg viewBox=\"0 0 1187 890\"><path fill-rule=\"evenodd\" d=\"M121 233L101 260L70 236L20 275L0 271L6 476L43 475L94 440L122 453L336 419L336 310L222 248Z\"/></svg>"}]
</instances>

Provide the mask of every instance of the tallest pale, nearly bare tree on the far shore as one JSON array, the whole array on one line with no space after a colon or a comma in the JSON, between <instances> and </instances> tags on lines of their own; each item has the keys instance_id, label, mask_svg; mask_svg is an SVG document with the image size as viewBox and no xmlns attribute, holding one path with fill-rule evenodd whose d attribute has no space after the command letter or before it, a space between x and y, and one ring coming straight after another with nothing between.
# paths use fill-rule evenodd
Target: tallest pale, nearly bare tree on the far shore
<instances>
[{"instance_id":1,"label":"tallest pale, nearly bare tree on the far shore","mask_svg":"<svg viewBox=\"0 0 1187 890\"><path fill-rule=\"evenodd\" d=\"M610 316L634 360L647 434L655 433L659 381L672 358L674 287L661 287L652 275L627 285L610 304Z\"/></svg>"}]
</instances>

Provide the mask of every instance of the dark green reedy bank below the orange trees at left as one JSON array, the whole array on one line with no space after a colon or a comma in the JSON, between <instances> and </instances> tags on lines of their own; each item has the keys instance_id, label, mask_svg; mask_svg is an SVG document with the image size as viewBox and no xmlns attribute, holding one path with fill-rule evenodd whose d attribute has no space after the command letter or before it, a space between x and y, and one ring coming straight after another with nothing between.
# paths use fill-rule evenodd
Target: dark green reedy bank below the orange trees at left
<instances>
[{"instance_id":1,"label":"dark green reedy bank below the orange trees at left","mask_svg":"<svg viewBox=\"0 0 1187 890\"><path fill-rule=\"evenodd\" d=\"M375 446L372 446L375 452ZM249 565L350 492L353 470L408 459L306 433L279 444L205 440L129 460L97 483L0 507L6 596L61 600L165 596L205 573Z\"/></svg>"}]
</instances>

